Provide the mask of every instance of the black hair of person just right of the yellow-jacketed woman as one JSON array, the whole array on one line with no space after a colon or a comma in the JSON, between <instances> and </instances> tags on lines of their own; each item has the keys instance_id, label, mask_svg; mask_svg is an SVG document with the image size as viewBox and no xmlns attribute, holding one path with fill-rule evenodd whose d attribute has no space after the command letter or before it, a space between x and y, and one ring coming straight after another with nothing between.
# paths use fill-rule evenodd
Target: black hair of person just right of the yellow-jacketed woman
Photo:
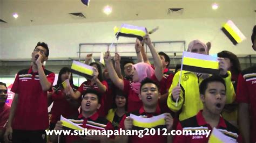
<instances>
[{"instance_id":1,"label":"black hair of person just right of the yellow-jacketed woman","mask_svg":"<svg viewBox=\"0 0 256 143\"><path fill-rule=\"evenodd\" d=\"M235 73L235 74L241 73L241 66L240 66L240 62L237 58L237 55L235 55L229 51L221 51L218 53L218 57L230 59L230 62L232 62L232 64L233 64L233 66L231 67L231 72Z\"/></svg>"}]
</instances>

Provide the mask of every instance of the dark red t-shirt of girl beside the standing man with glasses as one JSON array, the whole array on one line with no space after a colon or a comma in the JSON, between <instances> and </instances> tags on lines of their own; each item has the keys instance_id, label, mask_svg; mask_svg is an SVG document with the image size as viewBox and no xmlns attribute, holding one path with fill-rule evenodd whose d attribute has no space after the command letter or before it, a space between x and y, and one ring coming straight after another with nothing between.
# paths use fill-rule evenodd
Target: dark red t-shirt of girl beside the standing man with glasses
<instances>
[{"instance_id":1,"label":"dark red t-shirt of girl beside the standing man with glasses","mask_svg":"<svg viewBox=\"0 0 256 143\"><path fill-rule=\"evenodd\" d=\"M53 91L55 91L53 89ZM51 123L57 123L60 120L60 115L65 118L78 116L78 108L72 106L70 102L66 100L66 95L63 94L63 90L58 90L51 95L53 105L51 108ZM81 103L81 99L72 102Z\"/></svg>"}]
</instances>

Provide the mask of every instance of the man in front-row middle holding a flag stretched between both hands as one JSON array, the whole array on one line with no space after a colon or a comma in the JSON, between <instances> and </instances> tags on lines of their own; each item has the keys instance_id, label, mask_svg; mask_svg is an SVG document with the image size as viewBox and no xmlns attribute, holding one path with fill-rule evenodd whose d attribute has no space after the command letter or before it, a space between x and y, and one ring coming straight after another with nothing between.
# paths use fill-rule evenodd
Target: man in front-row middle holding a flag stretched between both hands
<instances>
[{"instance_id":1,"label":"man in front-row middle holding a flag stretched between both hands","mask_svg":"<svg viewBox=\"0 0 256 143\"><path fill-rule=\"evenodd\" d=\"M151 118L154 116L161 115L160 108L158 106L158 99L160 98L159 86L156 82L151 80L150 78L145 78L140 85L140 94L139 98L142 100L143 106L137 110L130 113L126 113L120 121L119 127L122 130L144 130L145 128L134 126L133 119L130 117L131 114L144 117ZM149 123L150 124L150 123ZM166 129L167 133L170 133L172 130L173 118L170 113L165 113L165 125L158 125L154 127L155 131L164 131L163 128ZM119 129L119 130L120 130ZM149 128L151 130L151 128ZM145 134L145 131L143 132ZM116 142L171 142L171 135L163 135L163 132L144 135L144 137L140 138L139 135L119 135L116 136Z\"/></svg>"}]
</instances>

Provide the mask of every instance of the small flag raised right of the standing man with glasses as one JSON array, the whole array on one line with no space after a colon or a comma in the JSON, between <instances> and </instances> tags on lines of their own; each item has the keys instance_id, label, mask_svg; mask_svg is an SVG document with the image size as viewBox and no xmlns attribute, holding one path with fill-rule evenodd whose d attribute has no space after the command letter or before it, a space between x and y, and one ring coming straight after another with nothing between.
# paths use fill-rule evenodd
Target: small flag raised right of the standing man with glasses
<instances>
[{"instance_id":1,"label":"small flag raised right of the standing man with glasses","mask_svg":"<svg viewBox=\"0 0 256 143\"><path fill-rule=\"evenodd\" d=\"M93 67L80 63L78 61L73 61L71 65L71 72L80 76L87 78L93 77Z\"/></svg>"}]
</instances>

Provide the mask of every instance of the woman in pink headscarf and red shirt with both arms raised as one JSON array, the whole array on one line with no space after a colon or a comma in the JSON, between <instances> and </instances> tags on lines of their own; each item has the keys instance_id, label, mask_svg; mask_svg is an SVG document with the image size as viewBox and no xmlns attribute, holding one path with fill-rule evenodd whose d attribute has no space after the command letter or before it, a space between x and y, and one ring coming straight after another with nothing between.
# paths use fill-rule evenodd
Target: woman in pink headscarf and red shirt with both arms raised
<instances>
[{"instance_id":1,"label":"woman in pink headscarf and red shirt with both arms raised","mask_svg":"<svg viewBox=\"0 0 256 143\"><path fill-rule=\"evenodd\" d=\"M124 94L128 95L127 112L139 110L142 107L142 101L139 99L138 94L140 91L140 82L144 80L144 78L149 77L158 83L163 78L163 66L161 64L161 60L158 53L156 52L156 49L154 49L148 34L144 37L144 40L147 46L150 48L155 64L155 69L153 69L149 64L143 62L133 65L134 71L132 73L132 81L125 81L118 77L116 71L113 68L109 51L105 53L104 57L111 80L117 88L123 90Z\"/></svg>"}]
</instances>

